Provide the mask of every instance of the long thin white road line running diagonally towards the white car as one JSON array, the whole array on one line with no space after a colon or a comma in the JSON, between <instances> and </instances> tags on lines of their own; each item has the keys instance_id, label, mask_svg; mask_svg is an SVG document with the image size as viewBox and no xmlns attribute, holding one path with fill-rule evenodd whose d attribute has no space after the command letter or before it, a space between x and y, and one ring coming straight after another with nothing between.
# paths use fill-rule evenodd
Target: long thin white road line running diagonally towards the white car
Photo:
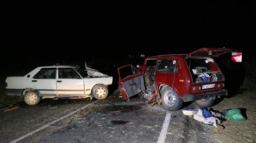
<instances>
[{"instance_id":1,"label":"long thin white road line running diagonally towards the white car","mask_svg":"<svg viewBox=\"0 0 256 143\"><path fill-rule=\"evenodd\" d=\"M97 100L97 101L99 101L99 100ZM56 122L58 122L58 121L60 121L60 120L62 120L62 119L65 119L66 117L69 117L69 116L75 114L76 112L85 109L87 106L90 106L90 105L92 105L93 103L96 103L97 101L94 101L94 102L92 102L92 103L90 103L90 104L87 104L87 105L83 106L82 108L79 108L79 109L77 109L76 111L73 111L73 112L69 113L69 114L66 115L66 116L63 116L63 117L61 117L61 118L59 118L59 119L57 119L57 120L55 120L55 121L52 121L52 122L49 123L49 124L46 124L46 125L44 125L44 126L42 126L42 127L39 127L39 128L37 128L37 130L34 130L34 131L32 131L32 132L30 132L30 133L28 133L28 134L25 134L25 135L23 135L22 137L20 137L20 138L18 138L18 139L15 139L15 140L13 140L13 141L11 141L11 142L17 142L17 141L20 141L20 140L22 140L22 139L24 139L24 138L26 138L26 137L29 137L29 135L32 135L32 134L34 134L34 133L36 133L36 132L38 132L38 131L41 131L41 130L43 130L44 128L46 128L46 127L48 127L48 126L50 126L50 125L52 125L52 124L55 124Z\"/></svg>"}]
</instances>

